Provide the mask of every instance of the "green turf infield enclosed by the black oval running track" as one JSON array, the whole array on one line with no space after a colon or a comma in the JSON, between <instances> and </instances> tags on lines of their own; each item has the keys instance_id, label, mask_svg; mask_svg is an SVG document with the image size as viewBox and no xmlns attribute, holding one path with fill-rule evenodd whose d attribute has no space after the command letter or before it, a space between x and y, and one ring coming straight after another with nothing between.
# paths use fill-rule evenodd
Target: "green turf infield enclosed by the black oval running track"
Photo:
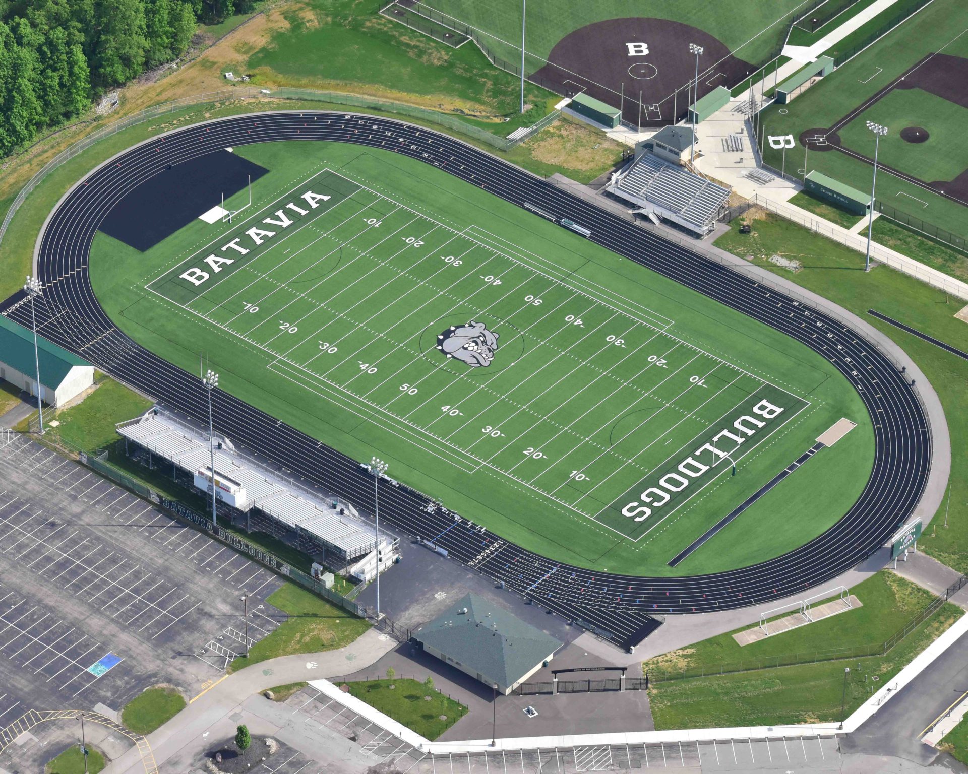
<instances>
[{"instance_id":1,"label":"green turf infield enclosed by the black oval running track","mask_svg":"<svg viewBox=\"0 0 968 774\"><path fill-rule=\"evenodd\" d=\"M872 449L860 398L781 334L426 164L319 142L236 152L270 170L238 223L196 221L147 253L95 240L108 313L171 362L194 371L203 348L243 400L356 459L378 454L394 478L534 551L613 572L764 559L830 526L862 490ZM307 204L310 178L332 196L315 217L253 245L200 294L179 278L268 202L282 197L275 212L295 191ZM478 316L499 335L493 365L443 358L437 337ZM710 452L708 486L654 519L610 507L764 398L784 413L737 453L738 475ZM667 566L843 416L858 429Z\"/></svg>"}]
</instances>

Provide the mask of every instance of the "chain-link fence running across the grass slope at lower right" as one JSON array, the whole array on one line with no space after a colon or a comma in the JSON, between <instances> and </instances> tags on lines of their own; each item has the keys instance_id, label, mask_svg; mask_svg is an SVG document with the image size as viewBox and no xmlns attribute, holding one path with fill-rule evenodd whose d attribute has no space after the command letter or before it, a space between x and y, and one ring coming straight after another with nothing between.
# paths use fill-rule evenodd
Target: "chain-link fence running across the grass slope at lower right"
<instances>
[{"instance_id":1,"label":"chain-link fence running across the grass slope at lower right","mask_svg":"<svg viewBox=\"0 0 968 774\"><path fill-rule=\"evenodd\" d=\"M843 659L869 658L871 656L886 656L901 640L914 632L924 621L948 602L957 591L968 584L968 577L961 576L937 597L931 600L922 610L911 617L907 623L898 629L891 637L883 642L866 645L845 645L827 650L804 651L796 653L777 653L772 656L758 656L741 659L732 663L704 665L701 667L650 667L648 670L651 682L665 682L668 680L682 680L690 677L712 677L720 674L735 674L741 671L771 670L777 667L795 667L800 664L818 664L825 661L841 661Z\"/></svg>"}]
</instances>

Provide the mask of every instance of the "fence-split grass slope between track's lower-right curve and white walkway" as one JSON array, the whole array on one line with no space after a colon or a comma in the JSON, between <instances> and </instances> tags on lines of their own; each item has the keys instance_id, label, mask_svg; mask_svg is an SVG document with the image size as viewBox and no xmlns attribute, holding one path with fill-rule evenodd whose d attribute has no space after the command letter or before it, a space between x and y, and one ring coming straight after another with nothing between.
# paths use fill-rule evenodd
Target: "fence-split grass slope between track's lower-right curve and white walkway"
<instances>
[{"instance_id":1,"label":"fence-split grass slope between track's lower-right curve and white walkway","mask_svg":"<svg viewBox=\"0 0 968 774\"><path fill-rule=\"evenodd\" d=\"M833 647L877 647L922 610L933 594L883 570L851 589L863 607L839 613L767 640L740 647L732 632L673 651L646 662L646 669L755 665L771 657ZM936 640L964 610L945 604L884 656L825 661L795 667L768 668L711 677L652 682L650 708L656 729L707 729L736 726L779 726L840 720L847 678L846 714L862 704ZM740 630L737 630L740 631ZM873 678L877 679L874 680Z\"/></svg>"}]
</instances>

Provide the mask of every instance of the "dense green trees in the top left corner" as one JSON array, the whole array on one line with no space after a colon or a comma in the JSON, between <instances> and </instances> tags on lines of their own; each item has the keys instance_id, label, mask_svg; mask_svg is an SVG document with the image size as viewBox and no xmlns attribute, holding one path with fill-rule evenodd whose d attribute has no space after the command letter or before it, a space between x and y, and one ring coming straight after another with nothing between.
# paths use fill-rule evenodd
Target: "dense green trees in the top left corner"
<instances>
[{"instance_id":1,"label":"dense green trees in the top left corner","mask_svg":"<svg viewBox=\"0 0 968 774\"><path fill-rule=\"evenodd\" d=\"M185 53L256 0L0 0L0 156Z\"/></svg>"}]
</instances>

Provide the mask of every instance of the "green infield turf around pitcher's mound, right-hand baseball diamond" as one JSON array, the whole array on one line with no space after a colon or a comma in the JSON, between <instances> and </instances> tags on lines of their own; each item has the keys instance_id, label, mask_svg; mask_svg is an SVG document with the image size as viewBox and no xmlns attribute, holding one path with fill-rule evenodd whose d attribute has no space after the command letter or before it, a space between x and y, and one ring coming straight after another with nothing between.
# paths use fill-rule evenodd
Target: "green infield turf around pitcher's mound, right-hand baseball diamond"
<instances>
[{"instance_id":1,"label":"green infield turf around pitcher's mound, right-hand baseball diamond","mask_svg":"<svg viewBox=\"0 0 968 774\"><path fill-rule=\"evenodd\" d=\"M960 104L923 89L894 89L837 130L845 148L857 151L870 144L867 121L891 130L881 137L877 157L880 164L913 175L925 183L953 180L968 169L968 146L962 141L964 127L968 124L968 109ZM901 139L901 130L906 127L926 130L927 141Z\"/></svg>"}]
</instances>

